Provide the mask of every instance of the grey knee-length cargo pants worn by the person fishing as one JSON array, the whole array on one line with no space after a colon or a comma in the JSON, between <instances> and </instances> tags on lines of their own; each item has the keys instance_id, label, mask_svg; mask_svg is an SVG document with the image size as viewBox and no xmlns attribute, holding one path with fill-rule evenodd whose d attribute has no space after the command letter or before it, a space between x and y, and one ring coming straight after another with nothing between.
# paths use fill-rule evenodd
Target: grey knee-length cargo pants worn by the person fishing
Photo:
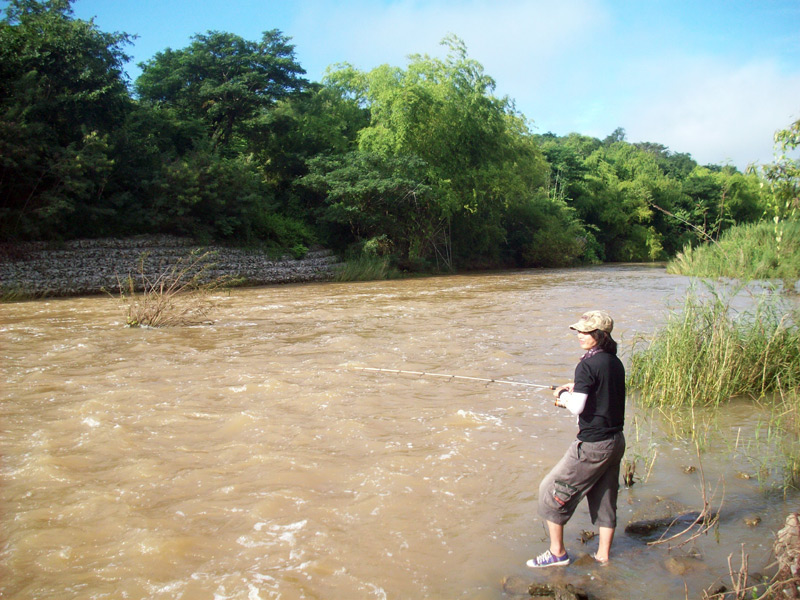
<instances>
[{"instance_id":1,"label":"grey knee-length cargo pants worn by the person fishing","mask_svg":"<svg viewBox=\"0 0 800 600\"><path fill-rule=\"evenodd\" d=\"M586 496L592 523L616 527L619 465L623 454L622 432L601 442L572 442L539 486L539 516L564 525Z\"/></svg>"}]
</instances>

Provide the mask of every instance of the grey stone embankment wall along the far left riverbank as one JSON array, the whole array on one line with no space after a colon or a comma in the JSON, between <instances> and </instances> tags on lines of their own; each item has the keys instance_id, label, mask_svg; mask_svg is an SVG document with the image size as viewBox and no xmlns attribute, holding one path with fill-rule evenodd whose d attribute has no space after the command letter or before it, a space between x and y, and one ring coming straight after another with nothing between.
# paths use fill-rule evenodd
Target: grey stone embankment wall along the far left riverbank
<instances>
[{"instance_id":1,"label":"grey stone embankment wall along the far left riverbank","mask_svg":"<svg viewBox=\"0 0 800 600\"><path fill-rule=\"evenodd\" d=\"M140 287L186 265L195 256L211 254L206 262L211 277L232 277L246 285L325 281L333 277L338 260L327 250L302 259L276 258L267 252L219 246L199 246L186 238L144 236L128 239L44 242L5 247L0 251L0 294L77 296L119 291L129 276ZM143 260L144 257L144 260ZM182 267L179 267L182 268Z\"/></svg>"}]
</instances>

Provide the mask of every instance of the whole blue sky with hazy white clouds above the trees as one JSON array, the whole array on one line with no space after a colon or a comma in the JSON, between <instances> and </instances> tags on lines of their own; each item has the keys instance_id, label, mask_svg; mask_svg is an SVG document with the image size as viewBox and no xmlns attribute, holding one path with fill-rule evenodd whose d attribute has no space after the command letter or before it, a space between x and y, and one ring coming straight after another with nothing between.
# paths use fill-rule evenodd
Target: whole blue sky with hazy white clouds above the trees
<instances>
[{"instance_id":1,"label":"whole blue sky with hazy white clouds above the trees","mask_svg":"<svg viewBox=\"0 0 800 600\"><path fill-rule=\"evenodd\" d=\"M75 16L138 35L136 63L195 33L292 38L307 77L349 62L404 67L452 33L538 133L688 152L701 164L773 158L800 118L800 0L75 0Z\"/></svg>"}]
</instances>

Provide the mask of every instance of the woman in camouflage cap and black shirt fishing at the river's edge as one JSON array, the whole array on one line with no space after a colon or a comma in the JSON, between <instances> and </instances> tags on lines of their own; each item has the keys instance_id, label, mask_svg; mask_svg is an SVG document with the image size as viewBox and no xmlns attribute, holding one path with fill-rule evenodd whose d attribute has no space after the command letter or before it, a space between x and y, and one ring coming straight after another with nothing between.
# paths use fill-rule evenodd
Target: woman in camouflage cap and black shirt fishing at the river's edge
<instances>
[{"instance_id":1,"label":"woman in camouflage cap and black shirt fishing at the river's edge","mask_svg":"<svg viewBox=\"0 0 800 600\"><path fill-rule=\"evenodd\" d=\"M604 311L584 314L570 327L586 353L575 381L556 388L556 406L578 415L578 439L539 486L539 515L547 521L550 549L529 567L569 564L564 525L586 496L592 523L600 529L595 560L606 563L617 526L619 466L625 453L625 368L611 338L614 321Z\"/></svg>"}]
</instances>

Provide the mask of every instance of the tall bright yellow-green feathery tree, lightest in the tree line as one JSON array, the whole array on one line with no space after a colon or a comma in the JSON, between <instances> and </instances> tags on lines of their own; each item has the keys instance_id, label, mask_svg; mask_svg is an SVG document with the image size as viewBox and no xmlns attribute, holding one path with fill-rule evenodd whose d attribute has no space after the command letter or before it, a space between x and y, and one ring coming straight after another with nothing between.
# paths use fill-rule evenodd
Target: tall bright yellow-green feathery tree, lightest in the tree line
<instances>
[{"instance_id":1,"label":"tall bright yellow-green feathery tree, lightest in the tree line","mask_svg":"<svg viewBox=\"0 0 800 600\"><path fill-rule=\"evenodd\" d=\"M454 256L462 264L497 260L507 240L505 212L538 197L547 165L525 120L494 96L494 81L463 42L451 36L442 44L444 59L414 55L407 69L366 73L340 65L325 83L369 110L360 152L424 170L421 180L435 191L433 213L451 226L444 238Z\"/></svg>"}]
</instances>

